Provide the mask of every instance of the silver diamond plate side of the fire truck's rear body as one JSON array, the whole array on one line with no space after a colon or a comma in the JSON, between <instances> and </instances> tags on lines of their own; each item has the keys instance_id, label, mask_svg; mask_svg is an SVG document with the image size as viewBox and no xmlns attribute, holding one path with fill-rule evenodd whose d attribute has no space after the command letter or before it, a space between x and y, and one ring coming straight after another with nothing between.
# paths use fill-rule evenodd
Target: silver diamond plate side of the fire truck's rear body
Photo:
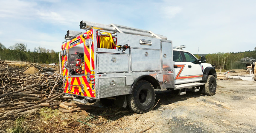
<instances>
[{"instance_id":1,"label":"silver diamond plate side of the fire truck's rear body","mask_svg":"<svg viewBox=\"0 0 256 133\"><path fill-rule=\"evenodd\" d=\"M93 43L97 44L97 34L96 31L98 29L93 29ZM103 32L109 32L109 31L104 31L100 30ZM113 33L113 32L109 32ZM125 50L125 52L122 52L122 50L117 50L117 49L104 49L104 48L97 48L96 45L94 45L94 56L95 58L95 90L96 90L96 99L99 98L104 98L104 97L113 97L113 96L119 96L119 95L124 95L124 94L131 94L132 85L125 85L125 76L132 76L134 81L139 78L142 75L150 75L154 78L156 78L157 74L169 74L168 71L162 71L162 50L161 50L161 41L168 42L168 40L161 40L161 39L155 39L155 38L150 38L150 37L145 37L145 36L136 36L136 35L130 35L130 34L125 34L125 33L116 33L117 34L117 45L125 45L128 44L131 46L131 49ZM152 45L141 45L140 44L140 39L144 40L151 40ZM169 41L171 42L171 41ZM172 50L171 50L172 51ZM135 52L135 53L133 53ZM145 52L148 53L148 58L151 58L151 60L147 60L145 57ZM111 57L106 56L99 56L99 54L126 54L128 57L128 71L127 72L111 72L113 70L107 70L107 69L112 69L115 68L116 66L113 64L113 62L109 59L112 59ZM170 55L168 54L167 57ZM103 58L103 59L101 59ZM132 59L133 58L133 59ZM118 62L118 58L116 58L116 63ZM109 61L107 61L109 60ZM105 62L105 69L102 70L99 73L99 68L101 67L101 63ZM132 61L135 63L132 64ZM146 61L146 62L145 62ZM101 64L99 66L99 64ZM125 64L127 62L125 61ZM171 63L172 64L172 61ZM104 65L102 65L104 66ZM134 68L132 69L132 67ZM173 64L171 65L173 66ZM136 70L136 72L134 72ZM103 72L105 71L105 72ZM121 71L120 69L116 69L116 71ZM172 74L170 74L172 75ZM174 87L174 78L171 78L169 76L166 76L166 79L169 82L164 85L165 86L173 86ZM173 79L173 80L172 80ZM115 80L116 85L111 86L110 83L112 80ZM158 89L163 89L163 82L159 82L160 88ZM156 89L156 88L155 88Z\"/></svg>"}]
</instances>

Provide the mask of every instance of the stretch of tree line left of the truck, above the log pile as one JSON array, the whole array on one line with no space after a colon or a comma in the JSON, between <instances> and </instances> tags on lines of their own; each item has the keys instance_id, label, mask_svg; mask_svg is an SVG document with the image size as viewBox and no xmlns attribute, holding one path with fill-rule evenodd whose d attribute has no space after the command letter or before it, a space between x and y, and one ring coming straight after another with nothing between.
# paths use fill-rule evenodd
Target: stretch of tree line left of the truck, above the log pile
<instances>
[{"instance_id":1,"label":"stretch of tree line left of the truck, above the log pile","mask_svg":"<svg viewBox=\"0 0 256 133\"><path fill-rule=\"evenodd\" d=\"M26 49L26 44L16 43L6 48L0 43L0 59L8 61L29 61L31 63L50 64L58 63L59 56L54 50L44 47L35 47L33 51Z\"/></svg>"}]
</instances>

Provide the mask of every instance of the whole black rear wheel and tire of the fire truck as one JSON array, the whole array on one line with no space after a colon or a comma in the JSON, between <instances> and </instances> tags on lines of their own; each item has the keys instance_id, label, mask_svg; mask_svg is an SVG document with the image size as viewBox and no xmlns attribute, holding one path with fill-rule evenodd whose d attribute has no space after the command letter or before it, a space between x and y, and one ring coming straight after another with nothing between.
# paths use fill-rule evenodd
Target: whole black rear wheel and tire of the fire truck
<instances>
[{"instance_id":1,"label":"whole black rear wheel and tire of the fire truck","mask_svg":"<svg viewBox=\"0 0 256 133\"><path fill-rule=\"evenodd\" d=\"M134 86L131 94L127 95L127 104L135 113L143 114L151 111L155 103L154 87L145 80L140 80Z\"/></svg>"}]
</instances>

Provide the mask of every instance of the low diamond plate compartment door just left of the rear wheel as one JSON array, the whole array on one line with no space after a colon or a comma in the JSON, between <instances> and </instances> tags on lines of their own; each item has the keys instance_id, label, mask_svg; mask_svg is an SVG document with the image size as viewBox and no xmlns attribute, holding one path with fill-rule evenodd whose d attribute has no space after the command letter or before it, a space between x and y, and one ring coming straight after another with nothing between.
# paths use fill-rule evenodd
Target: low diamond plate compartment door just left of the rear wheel
<instances>
[{"instance_id":1,"label":"low diamond plate compartment door just left of the rear wheel","mask_svg":"<svg viewBox=\"0 0 256 133\"><path fill-rule=\"evenodd\" d=\"M125 77L99 78L99 98L129 94L131 86L125 86Z\"/></svg>"}]
</instances>

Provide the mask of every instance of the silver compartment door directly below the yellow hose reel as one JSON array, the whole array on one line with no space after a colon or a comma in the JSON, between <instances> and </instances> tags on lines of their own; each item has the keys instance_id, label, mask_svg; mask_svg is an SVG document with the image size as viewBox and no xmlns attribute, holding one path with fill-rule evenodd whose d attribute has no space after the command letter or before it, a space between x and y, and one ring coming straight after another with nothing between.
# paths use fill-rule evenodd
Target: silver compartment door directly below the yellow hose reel
<instances>
[{"instance_id":1,"label":"silver compartment door directly below the yellow hose reel","mask_svg":"<svg viewBox=\"0 0 256 133\"><path fill-rule=\"evenodd\" d=\"M113 73L113 72L128 72L128 55L127 54L97 54L97 72L98 73Z\"/></svg>"}]
</instances>

